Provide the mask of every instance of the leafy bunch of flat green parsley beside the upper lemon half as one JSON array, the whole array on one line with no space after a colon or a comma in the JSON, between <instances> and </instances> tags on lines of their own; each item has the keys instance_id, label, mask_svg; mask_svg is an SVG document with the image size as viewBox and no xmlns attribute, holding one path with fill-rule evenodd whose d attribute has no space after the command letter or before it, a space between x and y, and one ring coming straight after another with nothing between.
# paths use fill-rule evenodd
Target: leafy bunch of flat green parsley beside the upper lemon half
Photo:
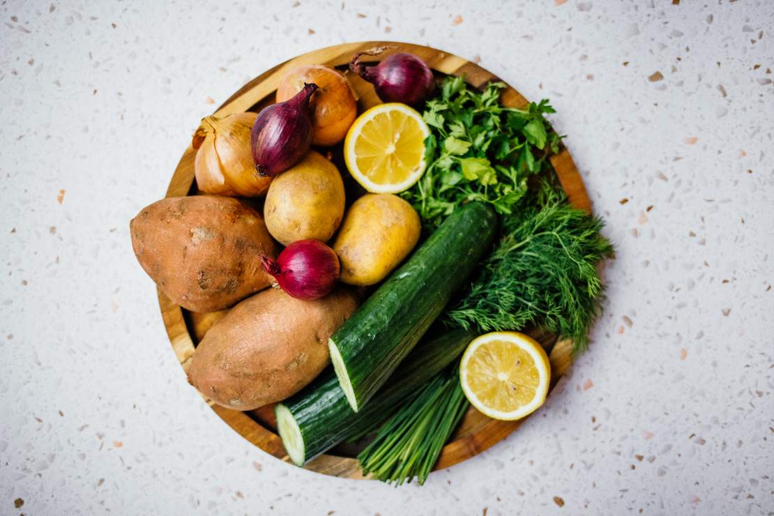
<instances>
[{"instance_id":1,"label":"leafy bunch of flat green parsley beside the upper lemon half","mask_svg":"<svg viewBox=\"0 0 774 516\"><path fill-rule=\"evenodd\" d=\"M430 229L454 208L473 200L510 214L527 190L527 177L543 169L561 137L543 118L555 112L548 101L526 109L500 105L502 82L485 91L468 89L464 77L447 77L440 97L426 105L430 125L425 140L427 169L402 197Z\"/></svg>"}]
</instances>

